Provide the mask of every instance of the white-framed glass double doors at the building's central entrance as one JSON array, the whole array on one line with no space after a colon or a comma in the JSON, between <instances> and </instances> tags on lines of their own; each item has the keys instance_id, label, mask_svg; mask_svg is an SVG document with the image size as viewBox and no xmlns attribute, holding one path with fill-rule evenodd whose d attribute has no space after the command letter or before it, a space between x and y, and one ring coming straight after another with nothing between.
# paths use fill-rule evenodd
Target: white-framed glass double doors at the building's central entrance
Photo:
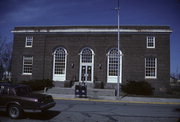
<instances>
[{"instance_id":1,"label":"white-framed glass double doors at the building's central entrance","mask_svg":"<svg viewBox=\"0 0 180 122\"><path fill-rule=\"evenodd\" d=\"M82 65L81 67L81 81L92 80L92 66Z\"/></svg>"}]
</instances>

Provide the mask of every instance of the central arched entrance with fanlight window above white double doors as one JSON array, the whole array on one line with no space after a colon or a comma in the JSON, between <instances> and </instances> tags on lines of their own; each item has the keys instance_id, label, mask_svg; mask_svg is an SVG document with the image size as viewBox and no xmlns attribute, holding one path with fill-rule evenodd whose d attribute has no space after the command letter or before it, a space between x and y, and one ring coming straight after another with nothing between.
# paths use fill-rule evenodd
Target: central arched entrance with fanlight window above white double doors
<instances>
[{"instance_id":1,"label":"central arched entrance with fanlight window above white double doors","mask_svg":"<svg viewBox=\"0 0 180 122\"><path fill-rule=\"evenodd\" d=\"M91 48L83 48L80 53L80 81L93 81L94 52Z\"/></svg>"}]
</instances>

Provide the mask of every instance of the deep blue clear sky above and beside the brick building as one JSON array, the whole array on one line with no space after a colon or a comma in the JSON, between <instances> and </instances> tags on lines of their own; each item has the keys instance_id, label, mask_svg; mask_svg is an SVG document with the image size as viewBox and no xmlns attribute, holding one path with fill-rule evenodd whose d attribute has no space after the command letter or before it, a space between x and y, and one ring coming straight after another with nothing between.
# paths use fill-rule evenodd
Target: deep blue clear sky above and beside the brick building
<instances>
[{"instance_id":1,"label":"deep blue clear sky above and beside the brick building","mask_svg":"<svg viewBox=\"0 0 180 122\"><path fill-rule=\"evenodd\" d=\"M118 0L0 0L0 36L16 26L117 25ZM171 73L180 73L180 0L120 0L120 25L169 25Z\"/></svg>"}]
</instances>

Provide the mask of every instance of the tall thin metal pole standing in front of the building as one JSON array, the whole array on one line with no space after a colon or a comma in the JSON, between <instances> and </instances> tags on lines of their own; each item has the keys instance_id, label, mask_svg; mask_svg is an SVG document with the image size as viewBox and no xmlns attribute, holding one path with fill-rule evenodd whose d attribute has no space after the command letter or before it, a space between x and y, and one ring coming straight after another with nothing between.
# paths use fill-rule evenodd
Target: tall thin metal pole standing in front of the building
<instances>
[{"instance_id":1,"label":"tall thin metal pole standing in front of the building","mask_svg":"<svg viewBox=\"0 0 180 122\"><path fill-rule=\"evenodd\" d=\"M120 14L120 7L119 7L119 0L118 0L118 7L115 8L117 10L117 18L118 18L118 72L117 72L117 97L120 96L120 27L119 27L119 14Z\"/></svg>"}]
</instances>

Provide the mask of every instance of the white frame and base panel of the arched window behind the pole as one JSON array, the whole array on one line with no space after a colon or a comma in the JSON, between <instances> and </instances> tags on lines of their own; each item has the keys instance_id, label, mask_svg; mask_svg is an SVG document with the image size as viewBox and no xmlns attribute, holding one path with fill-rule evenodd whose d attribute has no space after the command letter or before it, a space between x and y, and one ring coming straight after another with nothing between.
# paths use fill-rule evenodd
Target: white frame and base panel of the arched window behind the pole
<instances>
[{"instance_id":1,"label":"white frame and base panel of the arched window behind the pole","mask_svg":"<svg viewBox=\"0 0 180 122\"><path fill-rule=\"evenodd\" d=\"M117 79L118 79L118 75L117 76L109 75L109 56L110 56L111 50L113 50L113 49L117 49L117 48L111 48L107 54L107 83L117 83ZM120 61L119 62L120 63L119 64L119 66L120 66L119 76L120 76L120 83L122 83L122 52L121 52L121 50L120 50L119 58L120 58L120 60L119 60Z\"/></svg>"}]
</instances>

